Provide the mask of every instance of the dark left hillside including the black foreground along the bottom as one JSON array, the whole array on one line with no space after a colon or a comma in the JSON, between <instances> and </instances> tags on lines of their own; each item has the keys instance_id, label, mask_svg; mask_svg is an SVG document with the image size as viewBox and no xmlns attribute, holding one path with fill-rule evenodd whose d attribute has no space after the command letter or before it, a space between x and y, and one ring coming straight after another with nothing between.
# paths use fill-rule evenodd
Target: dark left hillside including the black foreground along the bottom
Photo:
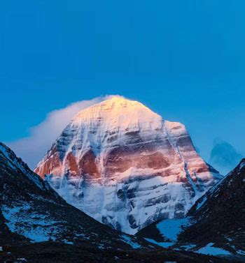
<instances>
[{"instance_id":1,"label":"dark left hillside including the black foreground along the bottom","mask_svg":"<svg viewBox=\"0 0 245 263\"><path fill-rule=\"evenodd\" d=\"M0 262L151 260L210 262L216 259L161 249L102 225L67 204L0 142Z\"/></svg>"}]
</instances>

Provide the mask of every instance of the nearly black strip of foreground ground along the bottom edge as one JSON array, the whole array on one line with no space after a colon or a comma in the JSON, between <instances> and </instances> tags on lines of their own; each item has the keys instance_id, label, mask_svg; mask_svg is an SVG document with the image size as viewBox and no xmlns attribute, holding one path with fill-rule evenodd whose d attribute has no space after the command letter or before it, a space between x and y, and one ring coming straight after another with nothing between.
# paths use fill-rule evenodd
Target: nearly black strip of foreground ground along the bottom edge
<instances>
[{"instance_id":1,"label":"nearly black strip of foreground ground along the bottom edge","mask_svg":"<svg viewBox=\"0 0 245 263\"><path fill-rule=\"evenodd\" d=\"M6 263L226 263L219 259L197 253L167 249L153 250L112 250L98 249L86 244L69 245L45 242L22 246L5 246L0 251L0 262Z\"/></svg>"}]
</instances>

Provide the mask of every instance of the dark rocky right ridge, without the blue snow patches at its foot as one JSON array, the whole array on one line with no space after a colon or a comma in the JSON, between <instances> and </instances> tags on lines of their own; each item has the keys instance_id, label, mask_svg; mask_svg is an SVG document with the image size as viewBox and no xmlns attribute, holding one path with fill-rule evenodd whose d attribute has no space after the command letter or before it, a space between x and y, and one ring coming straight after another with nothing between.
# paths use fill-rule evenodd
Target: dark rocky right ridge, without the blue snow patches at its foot
<instances>
[{"instance_id":1,"label":"dark rocky right ridge, without the blue snow patches at its foot","mask_svg":"<svg viewBox=\"0 0 245 263\"><path fill-rule=\"evenodd\" d=\"M216 246L245 256L245 159L189 211L193 224L179 242Z\"/></svg>"}]
</instances>

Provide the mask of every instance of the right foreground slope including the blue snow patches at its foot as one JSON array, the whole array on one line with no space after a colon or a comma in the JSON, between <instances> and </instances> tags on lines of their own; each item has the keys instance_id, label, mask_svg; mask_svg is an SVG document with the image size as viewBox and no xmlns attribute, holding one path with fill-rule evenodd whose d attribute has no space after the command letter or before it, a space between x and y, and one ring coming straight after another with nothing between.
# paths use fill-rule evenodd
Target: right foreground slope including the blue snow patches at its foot
<instances>
[{"instance_id":1,"label":"right foreground slope including the blue snow patches at its foot","mask_svg":"<svg viewBox=\"0 0 245 263\"><path fill-rule=\"evenodd\" d=\"M245 258L245 159L200 197L186 218L162 220L137 233L168 248Z\"/></svg>"}]
</instances>

